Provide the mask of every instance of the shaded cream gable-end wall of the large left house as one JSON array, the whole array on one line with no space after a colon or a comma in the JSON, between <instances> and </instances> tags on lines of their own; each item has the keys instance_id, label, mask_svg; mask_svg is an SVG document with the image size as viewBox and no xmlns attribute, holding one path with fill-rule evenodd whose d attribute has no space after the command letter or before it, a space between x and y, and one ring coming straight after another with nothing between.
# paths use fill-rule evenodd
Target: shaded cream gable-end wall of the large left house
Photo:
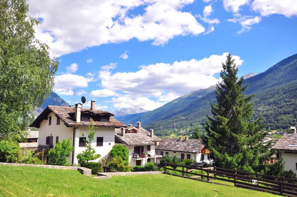
<instances>
[{"instance_id":1,"label":"shaded cream gable-end wall of the large left house","mask_svg":"<svg viewBox=\"0 0 297 197\"><path fill-rule=\"evenodd\" d=\"M59 137L59 141L63 140L63 138L65 139L73 138L72 127L66 127L62 120L60 120L59 125L56 125L57 117L52 112L49 113L48 117L51 117L51 125L49 125L49 118L48 120L43 120L40 123L38 145L46 145L46 137L48 136L52 136L53 145L56 142L56 136ZM71 144L72 144L72 140L71 140ZM71 164L71 156L68 162Z\"/></svg>"}]
</instances>

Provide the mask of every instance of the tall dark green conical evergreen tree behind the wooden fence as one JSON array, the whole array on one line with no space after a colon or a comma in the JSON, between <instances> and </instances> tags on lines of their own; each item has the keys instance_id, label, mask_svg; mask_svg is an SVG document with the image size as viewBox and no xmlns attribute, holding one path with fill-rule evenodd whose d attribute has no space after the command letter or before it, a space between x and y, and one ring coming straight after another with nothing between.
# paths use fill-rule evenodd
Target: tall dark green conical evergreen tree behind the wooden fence
<instances>
[{"instance_id":1,"label":"tall dark green conical evergreen tree behind the wooden fence","mask_svg":"<svg viewBox=\"0 0 297 197\"><path fill-rule=\"evenodd\" d=\"M260 119L249 122L253 113L253 95L243 93L244 78L238 80L238 68L229 53L222 63L222 82L216 86L216 103L207 116L203 142L211 151L216 166L256 171L259 164L272 154L261 143L266 135Z\"/></svg>"}]
</instances>

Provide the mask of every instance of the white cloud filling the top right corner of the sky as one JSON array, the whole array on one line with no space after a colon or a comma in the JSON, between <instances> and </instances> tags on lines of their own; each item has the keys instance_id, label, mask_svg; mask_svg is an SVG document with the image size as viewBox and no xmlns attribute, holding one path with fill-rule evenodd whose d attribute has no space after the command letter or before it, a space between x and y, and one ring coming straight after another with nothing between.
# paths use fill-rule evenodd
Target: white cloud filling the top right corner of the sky
<instances>
[{"instance_id":1,"label":"white cloud filling the top right corner of the sky","mask_svg":"<svg viewBox=\"0 0 297 197\"><path fill-rule=\"evenodd\" d=\"M286 17L297 16L297 0L254 0L251 3L254 11L262 16L283 14Z\"/></svg>"}]
</instances>

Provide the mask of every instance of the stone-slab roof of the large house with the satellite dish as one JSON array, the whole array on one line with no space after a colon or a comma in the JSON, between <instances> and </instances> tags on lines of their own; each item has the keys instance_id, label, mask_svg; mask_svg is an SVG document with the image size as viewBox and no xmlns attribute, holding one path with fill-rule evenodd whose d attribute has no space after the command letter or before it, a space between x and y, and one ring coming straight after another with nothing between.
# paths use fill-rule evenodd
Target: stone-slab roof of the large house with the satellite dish
<instances>
[{"instance_id":1,"label":"stone-slab roof of the large house with the satellite dish","mask_svg":"<svg viewBox=\"0 0 297 197\"><path fill-rule=\"evenodd\" d=\"M55 113L57 117L59 117L68 127L75 127L75 126L89 126L93 122L94 126L97 127L127 127L124 123L118 121L117 119L110 117L109 122L99 122L99 121L84 121L81 119L81 122L76 122L74 119L74 108L73 107L64 107L64 106L55 106L55 105L48 105L48 107L33 121L31 126L39 128L40 122L44 120L45 117L49 115L50 112ZM91 115L110 115L113 114L109 113L108 111L103 111L100 109L87 109L83 108L81 110L81 114L88 113Z\"/></svg>"}]
</instances>

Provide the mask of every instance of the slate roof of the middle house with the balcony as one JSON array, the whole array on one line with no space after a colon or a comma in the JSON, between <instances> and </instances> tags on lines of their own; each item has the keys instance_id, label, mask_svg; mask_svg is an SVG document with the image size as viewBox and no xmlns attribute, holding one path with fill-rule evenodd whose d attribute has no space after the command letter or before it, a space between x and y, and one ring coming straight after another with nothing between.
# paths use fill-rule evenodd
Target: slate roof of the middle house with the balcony
<instances>
[{"instance_id":1,"label":"slate roof of the middle house with the balcony","mask_svg":"<svg viewBox=\"0 0 297 197\"><path fill-rule=\"evenodd\" d=\"M156 136L150 137L150 132L144 128L128 127L127 129L137 129L138 133L125 133L121 135L121 129L115 129L115 138L126 144L127 146L141 146L141 145L154 145L154 142L161 141Z\"/></svg>"}]
</instances>

